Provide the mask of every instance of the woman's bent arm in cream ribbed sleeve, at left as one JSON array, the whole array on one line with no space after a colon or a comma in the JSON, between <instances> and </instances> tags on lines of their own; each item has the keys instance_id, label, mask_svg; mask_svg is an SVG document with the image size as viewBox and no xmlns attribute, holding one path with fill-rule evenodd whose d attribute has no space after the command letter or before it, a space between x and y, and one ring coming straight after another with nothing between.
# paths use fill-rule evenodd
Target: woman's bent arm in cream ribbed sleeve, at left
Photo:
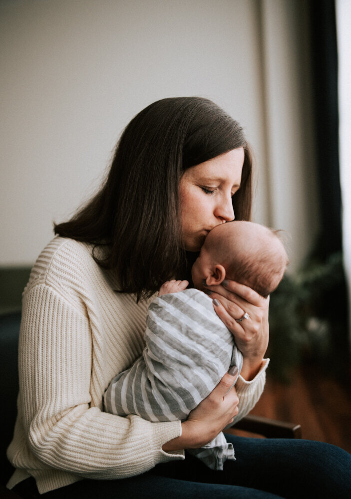
<instances>
[{"instance_id":1,"label":"woman's bent arm in cream ribbed sleeve, at left","mask_svg":"<svg viewBox=\"0 0 351 499\"><path fill-rule=\"evenodd\" d=\"M34 476L52 468L86 478L123 478L182 459L161 449L180 436L179 421L150 423L93 407L96 371L104 366L94 365L92 349L88 318L58 292L39 284L25 293L19 344L22 428L9 451L14 466L23 467L26 442L24 467Z\"/></svg>"}]
</instances>

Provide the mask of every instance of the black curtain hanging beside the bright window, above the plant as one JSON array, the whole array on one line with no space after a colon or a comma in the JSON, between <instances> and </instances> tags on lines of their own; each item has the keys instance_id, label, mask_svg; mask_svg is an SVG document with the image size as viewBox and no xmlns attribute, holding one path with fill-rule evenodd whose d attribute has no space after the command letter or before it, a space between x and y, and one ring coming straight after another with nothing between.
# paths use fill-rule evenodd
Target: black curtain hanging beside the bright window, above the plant
<instances>
[{"instance_id":1,"label":"black curtain hanging beside the bright window, above the plant","mask_svg":"<svg viewBox=\"0 0 351 499\"><path fill-rule=\"evenodd\" d=\"M342 249L339 175L338 47L334 0L311 1L317 165L322 234L320 255Z\"/></svg>"}]
</instances>

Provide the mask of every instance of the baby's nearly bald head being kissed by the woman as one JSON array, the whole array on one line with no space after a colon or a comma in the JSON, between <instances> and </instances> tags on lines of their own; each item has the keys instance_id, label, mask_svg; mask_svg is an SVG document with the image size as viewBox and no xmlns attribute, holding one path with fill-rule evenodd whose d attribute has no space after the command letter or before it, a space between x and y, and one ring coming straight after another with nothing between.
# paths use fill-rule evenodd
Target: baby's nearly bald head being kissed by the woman
<instances>
[{"instance_id":1,"label":"baby's nearly bald head being kissed by the woman","mask_svg":"<svg viewBox=\"0 0 351 499\"><path fill-rule=\"evenodd\" d=\"M221 284L224 278L246 284L267 297L289 262L278 233L253 222L218 225L207 235L191 269L194 286Z\"/></svg>"}]
</instances>

